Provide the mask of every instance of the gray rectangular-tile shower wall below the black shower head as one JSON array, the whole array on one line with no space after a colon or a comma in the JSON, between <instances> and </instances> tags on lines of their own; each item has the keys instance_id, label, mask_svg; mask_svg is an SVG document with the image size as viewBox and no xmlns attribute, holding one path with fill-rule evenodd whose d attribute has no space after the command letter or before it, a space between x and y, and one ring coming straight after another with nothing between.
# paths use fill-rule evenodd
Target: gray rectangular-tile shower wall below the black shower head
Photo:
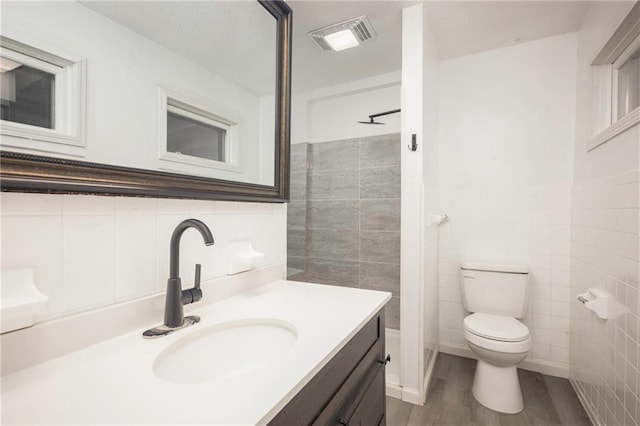
<instances>
[{"instance_id":1,"label":"gray rectangular-tile shower wall below the black shower head","mask_svg":"<svg viewBox=\"0 0 640 426\"><path fill-rule=\"evenodd\" d=\"M289 278L390 291L400 328L400 134L291 147Z\"/></svg>"}]
</instances>

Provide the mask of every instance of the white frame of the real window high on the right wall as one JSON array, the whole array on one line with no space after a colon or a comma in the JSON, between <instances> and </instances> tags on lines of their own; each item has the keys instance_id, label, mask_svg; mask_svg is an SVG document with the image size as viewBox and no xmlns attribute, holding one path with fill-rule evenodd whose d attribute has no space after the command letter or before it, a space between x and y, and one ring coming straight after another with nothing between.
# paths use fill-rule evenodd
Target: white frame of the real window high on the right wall
<instances>
[{"instance_id":1,"label":"white frame of the real window high on the right wall","mask_svg":"<svg viewBox=\"0 0 640 426\"><path fill-rule=\"evenodd\" d=\"M640 29L634 22L640 13L637 4L605 44L592 64L591 130L587 151L608 142L640 123L640 107L618 119L618 70L640 48ZM630 40L630 41L629 41Z\"/></svg>"}]
</instances>

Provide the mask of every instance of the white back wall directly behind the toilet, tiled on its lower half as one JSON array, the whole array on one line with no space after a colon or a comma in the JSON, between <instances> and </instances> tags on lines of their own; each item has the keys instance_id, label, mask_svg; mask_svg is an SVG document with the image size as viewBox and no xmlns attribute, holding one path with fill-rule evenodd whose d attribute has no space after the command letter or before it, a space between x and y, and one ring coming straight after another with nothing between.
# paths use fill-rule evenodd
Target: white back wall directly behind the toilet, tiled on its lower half
<instances>
[{"instance_id":1,"label":"white back wall directly behind the toilet, tiled on its lower half","mask_svg":"<svg viewBox=\"0 0 640 426\"><path fill-rule=\"evenodd\" d=\"M440 66L440 342L465 347L461 261L525 264L529 360L568 374L576 35Z\"/></svg>"}]
</instances>

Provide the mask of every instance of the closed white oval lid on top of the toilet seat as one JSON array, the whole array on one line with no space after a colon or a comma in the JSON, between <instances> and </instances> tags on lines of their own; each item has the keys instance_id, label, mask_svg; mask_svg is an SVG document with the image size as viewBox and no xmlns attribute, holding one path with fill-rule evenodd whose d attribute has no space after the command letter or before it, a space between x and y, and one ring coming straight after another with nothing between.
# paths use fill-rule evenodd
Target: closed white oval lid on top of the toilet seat
<instances>
[{"instance_id":1,"label":"closed white oval lid on top of the toilet seat","mask_svg":"<svg viewBox=\"0 0 640 426\"><path fill-rule=\"evenodd\" d=\"M520 342L529 337L529 329L515 318L475 313L464 319L465 330L487 339Z\"/></svg>"}]
</instances>

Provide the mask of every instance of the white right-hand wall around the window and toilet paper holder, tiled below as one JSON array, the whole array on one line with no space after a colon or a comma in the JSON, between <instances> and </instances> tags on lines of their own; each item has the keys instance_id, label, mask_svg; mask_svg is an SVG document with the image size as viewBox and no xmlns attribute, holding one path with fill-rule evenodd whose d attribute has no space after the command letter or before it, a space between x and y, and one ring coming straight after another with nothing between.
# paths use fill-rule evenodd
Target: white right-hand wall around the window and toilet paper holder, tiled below
<instances>
[{"instance_id":1,"label":"white right-hand wall around the window and toilet paper holder, tiled below","mask_svg":"<svg viewBox=\"0 0 640 426\"><path fill-rule=\"evenodd\" d=\"M570 377L597 425L640 423L640 126L586 151L590 64L633 5L594 3L578 32L571 293L604 289L623 311L604 321L571 304Z\"/></svg>"}]
</instances>

